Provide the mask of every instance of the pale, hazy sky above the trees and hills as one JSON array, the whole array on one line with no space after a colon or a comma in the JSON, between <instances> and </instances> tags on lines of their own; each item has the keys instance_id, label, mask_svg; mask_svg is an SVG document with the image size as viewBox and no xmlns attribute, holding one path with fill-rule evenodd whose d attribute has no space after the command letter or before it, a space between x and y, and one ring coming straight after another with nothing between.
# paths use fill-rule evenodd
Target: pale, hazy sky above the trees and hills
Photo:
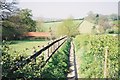
<instances>
[{"instance_id":1,"label":"pale, hazy sky above the trees and hills","mask_svg":"<svg viewBox=\"0 0 120 80\"><path fill-rule=\"evenodd\" d=\"M32 10L33 17L44 18L82 18L89 11L94 13L109 15L118 13L118 0L84 0L84 1L47 1L47 0L21 0L20 8L28 8Z\"/></svg>"}]
</instances>

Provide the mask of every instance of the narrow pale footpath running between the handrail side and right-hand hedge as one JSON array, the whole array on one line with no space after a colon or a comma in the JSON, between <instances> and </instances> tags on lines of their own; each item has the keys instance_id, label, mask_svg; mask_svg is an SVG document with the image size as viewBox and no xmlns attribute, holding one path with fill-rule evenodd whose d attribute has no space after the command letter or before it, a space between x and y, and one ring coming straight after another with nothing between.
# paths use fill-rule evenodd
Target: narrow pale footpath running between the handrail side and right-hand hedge
<instances>
[{"instance_id":1,"label":"narrow pale footpath running between the handrail side and right-hand hedge","mask_svg":"<svg viewBox=\"0 0 120 80\"><path fill-rule=\"evenodd\" d=\"M69 53L69 72L67 74L67 80L78 80L77 64L75 57L74 44L71 42L71 48Z\"/></svg>"}]
</instances>

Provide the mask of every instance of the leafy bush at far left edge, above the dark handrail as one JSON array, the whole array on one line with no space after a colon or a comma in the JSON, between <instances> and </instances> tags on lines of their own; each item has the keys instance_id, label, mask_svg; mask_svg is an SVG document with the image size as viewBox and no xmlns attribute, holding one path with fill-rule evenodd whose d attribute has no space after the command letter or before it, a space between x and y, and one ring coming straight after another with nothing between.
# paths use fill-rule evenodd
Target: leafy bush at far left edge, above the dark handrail
<instances>
[{"instance_id":1,"label":"leafy bush at far left edge, above the dark handrail","mask_svg":"<svg viewBox=\"0 0 120 80\"><path fill-rule=\"evenodd\" d=\"M9 74L10 67L14 66L18 61L21 61L22 58L25 58L26 56L22 56L19 54L19 52L13 52L10 50L9 47L10 43L6 43L5 41L2 42L2 76L3 77L13 77L15 75Z\"/></svg>"}]
</instances>

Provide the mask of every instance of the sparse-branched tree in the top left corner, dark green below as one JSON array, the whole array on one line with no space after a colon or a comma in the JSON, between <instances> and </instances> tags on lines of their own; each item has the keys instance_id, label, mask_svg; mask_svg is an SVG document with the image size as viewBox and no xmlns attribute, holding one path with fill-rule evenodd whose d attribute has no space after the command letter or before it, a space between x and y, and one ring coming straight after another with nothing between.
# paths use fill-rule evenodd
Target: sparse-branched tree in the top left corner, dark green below
<instances>
[{"instance_id":1,"label":"sparse-branched tree in the top left corner, dark green below","mask_svg":"<svg viewBox=\"0 0 120 80\"><path fill-rule=\"evenodd\" d=\"M19 8L17 7L17 1L7 1L7 0L1 0L0 1L0 8L1 8L1 14L0 19L2 20L2 37L3 39L8 39L10 37L13 37L13 33L15 32L14 27L15 19L12 18L12 16L15 16L17 12L19 11ZM11 19L10 19L11 18ZM11 22L11 20L14 20ZM16 18L18 19L18 18Z\"/></svg>"}]
</instances>

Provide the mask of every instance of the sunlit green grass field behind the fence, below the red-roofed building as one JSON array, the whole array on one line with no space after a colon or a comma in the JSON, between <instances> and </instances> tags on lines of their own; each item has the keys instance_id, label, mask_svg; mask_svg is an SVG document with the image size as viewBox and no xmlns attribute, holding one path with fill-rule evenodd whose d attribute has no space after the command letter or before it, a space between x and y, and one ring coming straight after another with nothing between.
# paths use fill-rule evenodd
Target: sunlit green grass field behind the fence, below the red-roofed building
<instances>
[{"instance_id":1,"label":"sunlit green grass field behind the fence, below the red-roofed building","mask_svg":"<svg viewBox=\"0 0 120 80\"><path fill-rule=\"evenodd\" d=\"M33 54L33 47L38 51L43 45L47 45L47 42L48 41L12 41L9 47L14 52L31 55Z\"/></svg>"}]
</instances>

